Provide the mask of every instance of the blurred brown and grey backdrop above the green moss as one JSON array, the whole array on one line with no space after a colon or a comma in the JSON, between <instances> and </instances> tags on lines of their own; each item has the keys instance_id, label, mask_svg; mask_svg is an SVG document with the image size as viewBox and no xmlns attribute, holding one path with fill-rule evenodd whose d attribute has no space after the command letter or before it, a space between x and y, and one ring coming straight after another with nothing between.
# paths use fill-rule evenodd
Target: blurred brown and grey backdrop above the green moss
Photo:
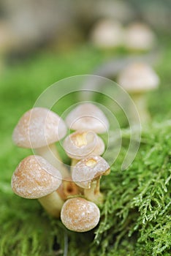
<instances>
[{"instance_id":1,"label":"blurred brown and grey backdrop above the green moss","mask_svg":"<svg viewBox=\"0 0 171 256\"><path fill-rule=\"evenodd\" d=\"M9 62L39 49L67 50L90 42L99 20L121 26L142 22L161 37L170 34L170 0L1 0L0 51Z\"/></svg>"}]
</instances>

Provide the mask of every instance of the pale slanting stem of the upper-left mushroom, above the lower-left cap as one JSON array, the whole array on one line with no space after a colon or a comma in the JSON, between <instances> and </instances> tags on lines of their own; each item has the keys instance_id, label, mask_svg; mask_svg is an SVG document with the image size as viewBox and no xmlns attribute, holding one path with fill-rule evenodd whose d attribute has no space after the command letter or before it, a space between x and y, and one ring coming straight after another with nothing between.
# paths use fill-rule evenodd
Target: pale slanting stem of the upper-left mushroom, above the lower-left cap
<instances>
[{"instance_id":1,"label":"pale slanting stem of the upper-left mushroom, above the lower-left cap","mask_svg":"<svg viewBox=\"0 0 171 256\"><path fill-rule=\"evenodd\" d=\"M62 178L69 176L69 171L66 169L66 167L64 167L64 164L54 143L42 148L36 148L35 151L36 154L45 158L48 162L50 162L51 165L56 167L61 172Z\"/></svg>"}]
</instances>

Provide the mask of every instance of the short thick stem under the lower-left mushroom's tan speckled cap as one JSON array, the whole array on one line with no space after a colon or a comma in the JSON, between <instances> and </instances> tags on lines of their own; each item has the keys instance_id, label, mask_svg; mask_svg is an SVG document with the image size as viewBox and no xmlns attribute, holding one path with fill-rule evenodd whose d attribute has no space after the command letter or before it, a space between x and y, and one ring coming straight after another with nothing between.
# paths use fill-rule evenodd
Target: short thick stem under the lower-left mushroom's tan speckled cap
<instances>
[{"instance_id":1,"label":"short thick stem under the lower-left mushroom's tan speckled cap","mask_svg":"<svg viewBox=\"0 0 171 256\"><path fill-rule=\"evenodd\" d=\"M61 197L56 191L49 195L45 195L45 197L40 197L38 200L48 214L56 218L60 217L64 201L61 200Z\"/></svg>"}]
</instances>

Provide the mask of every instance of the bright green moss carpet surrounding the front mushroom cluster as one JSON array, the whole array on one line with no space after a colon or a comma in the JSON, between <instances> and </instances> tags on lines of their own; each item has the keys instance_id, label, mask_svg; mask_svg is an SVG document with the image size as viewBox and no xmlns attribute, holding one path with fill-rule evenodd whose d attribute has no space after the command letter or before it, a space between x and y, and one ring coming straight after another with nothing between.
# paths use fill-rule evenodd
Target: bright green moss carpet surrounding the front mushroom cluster
<instances>
[{"instance_id":1,"label":"bright green moss carpet surrounding the front mushroom cluster","mask_svg":"<svg viewBox=\"0 0 171 256\"><path fill-rule=\"evenodd\" d=\"M110 176L102 178L105 202L101 220L87 233L66 230L60 220L47 216L37 200L13 194L12 173L31 151L14 146L11 135L20 116L32 108L47 86L71 75L89 74L109 56L80 47L67 53L38 53L4 70L0 80L0 256L170 255L170 43L167 39L156 64L160 88L148 94L153 121L142 130L140 150L124 171L121 163L129 145L129 131L123 129L121 153ZM63 101L58 113L71 102Z\"/></svg>"}]
</instances>

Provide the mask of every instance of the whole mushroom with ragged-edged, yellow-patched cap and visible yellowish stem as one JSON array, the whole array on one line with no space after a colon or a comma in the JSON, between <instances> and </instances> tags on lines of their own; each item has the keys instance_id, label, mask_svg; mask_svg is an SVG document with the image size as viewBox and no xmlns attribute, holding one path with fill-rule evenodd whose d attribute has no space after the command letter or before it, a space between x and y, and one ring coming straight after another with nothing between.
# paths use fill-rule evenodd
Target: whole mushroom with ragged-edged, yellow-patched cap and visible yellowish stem
<instances>
[{"instance_id":1,"label":"whole mushroom with ragged-edged, yellow-patched cap and visible yellowish stem","mask_svg":"<svg viewBox=\"0 0 171 256\"><path fill-rule=\"evenodd\" d=\"M80 160L73 167L72 180L84 189L86 199L99 204L103 201L103 195L99 191L100 178L109 173L110 166L102 157L91 156Z\"/></svg>"}]
</instances>

